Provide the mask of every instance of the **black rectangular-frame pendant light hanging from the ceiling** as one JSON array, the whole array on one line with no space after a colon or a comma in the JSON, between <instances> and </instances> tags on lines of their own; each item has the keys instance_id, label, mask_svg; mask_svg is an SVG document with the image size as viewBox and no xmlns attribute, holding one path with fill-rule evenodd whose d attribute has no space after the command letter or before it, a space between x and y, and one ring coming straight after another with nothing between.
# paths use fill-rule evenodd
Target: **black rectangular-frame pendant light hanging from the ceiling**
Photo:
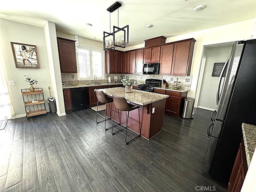
<instances>
[{"instance_id":1,"label":"black rectangular-frame pendant light hanging from the ceiling","mask_svg":"<svg viewBox=\"0 0 256 192\"><path fill-rule=\"evenodd\" d=\"M119 8L122 6L119 2L115 2L110 6L107 11L109 12L109 30L110 32L103 32L103 44L104 50L115 49L116 47L125 48L125 45L129 42L129 25L119 28ZM117 20L118 26L113 26L111 32L111 13L118 10Z\"/></svg>"}]
</instances>

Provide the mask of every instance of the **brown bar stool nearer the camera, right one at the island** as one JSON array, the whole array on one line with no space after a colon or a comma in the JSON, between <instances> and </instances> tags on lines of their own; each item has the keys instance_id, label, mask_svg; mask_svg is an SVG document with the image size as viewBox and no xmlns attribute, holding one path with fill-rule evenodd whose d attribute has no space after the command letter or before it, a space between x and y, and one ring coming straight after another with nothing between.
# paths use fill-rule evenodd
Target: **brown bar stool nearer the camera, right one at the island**
<instances>
[{"instance_id":1,"label":"brown bar stool nearer the camera, right one at the island","mask_svg":"<svg viewBox=\"0 0 256 192\"><path fill-rule=\"evenodd\" d=\"M118 109L118 115L119 115L119 110L120 111L125 111L125 118L126 118L126 126L125 128L123 128L122 126L120 126L121 124L121 121L119 119L119 124L116 124L114 122L114 117L115 117L115 113L113 115L113 122L112 122L112 134L116 134L117 132L120 132L122 130L126 130L125 132L125 144L127 145L130 141L134 140L135 138L137 138L138 136L141 135L141 127L140 127L140 107L139 106L135 106L135 105L132 105L132 104L129 104L127 103L126 99L124 97L117 97L117 96L114 96L112 95L112 98L114 100L114 104L115 104L115 107L114 107L114 111L116 110L116 108ZM138 122L139 123L139 129L140 129L140 134L138 134L136 137L134 137L133 139L131 139L130 141L126 142L126 138L127 138L127 126L128 126L128 119L129 119L129 112L132 111L132 110L135 110L135 109L138 109L138 115L139 115L139 121L136 121L136 120L133 120L133 119L130 119L130 120L133 120L135 122ZM127 113L128 112L128 113ZM119 126L121 129L114 132L113 133L113 126Z\"/></svg>"}]
</instances>

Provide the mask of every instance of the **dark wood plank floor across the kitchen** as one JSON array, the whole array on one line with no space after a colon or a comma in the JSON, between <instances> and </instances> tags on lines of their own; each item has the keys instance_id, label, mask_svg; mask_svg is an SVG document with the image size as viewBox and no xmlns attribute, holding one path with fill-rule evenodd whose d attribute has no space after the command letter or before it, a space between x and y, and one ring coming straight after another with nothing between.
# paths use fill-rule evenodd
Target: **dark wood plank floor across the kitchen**
<instances>
[{"instance_id":1,"label":"dark wood plank floor across the kitchen","mask_svg":"<svg viewBox=\"0 0 256 192\"><path fill-rule=\"evenodd\" d=\"M0 130L0 191L226 191L202 172L209 111L195 109L194 119L165 115L152 140L139 137L128 145L124 131L112 135L95 119L87 109L8 120Z\"/></svg>"}]
</instances>

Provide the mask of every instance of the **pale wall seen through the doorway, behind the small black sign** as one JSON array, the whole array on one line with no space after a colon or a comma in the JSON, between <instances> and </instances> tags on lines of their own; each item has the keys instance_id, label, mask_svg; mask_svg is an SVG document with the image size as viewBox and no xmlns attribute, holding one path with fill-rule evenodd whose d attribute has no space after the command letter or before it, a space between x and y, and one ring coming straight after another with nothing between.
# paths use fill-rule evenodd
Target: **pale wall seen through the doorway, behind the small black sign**
<instances>
[{"instance_id":1,"label":"pale wall seen through the doorway, behind the small black sign","mask_svg":"<svg viewBox=\"0 0 256 192\"><path fill-rule=\"evenodd\" d=\"M204 108L217 109L216 89L219 77L212 77L212 70L214 63L222 63L226 61L230 55L231 49L232 46L205 48L204 55L206 56L206 63L204 67L198 107L201 106ZM222 81L224 81L224 78L222 78Z\"/></svg>"}]
</instances>

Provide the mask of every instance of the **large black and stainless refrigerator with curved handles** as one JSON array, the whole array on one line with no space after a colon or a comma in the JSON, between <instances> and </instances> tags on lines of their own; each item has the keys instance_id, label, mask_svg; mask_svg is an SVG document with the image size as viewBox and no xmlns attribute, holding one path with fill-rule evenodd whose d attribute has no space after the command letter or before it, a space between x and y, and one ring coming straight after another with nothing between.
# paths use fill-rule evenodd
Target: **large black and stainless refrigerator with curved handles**
<instances>
[{"instance_id":1,"label":"large black and stainless refrigerator with curved handles","mask_svg":"<svg viewBox=\"0 0 256 192\"><path fill-rule=\"evenodd\" d=\"M242 123L256 124L255 53L256 40L235 42L218 82L218 108L216 117L212 115L213 127L208 128L210 141L203 172L226 185L241 142ZM220 89L225 69L227 72Z\"/></svg>"}]
</instances>

